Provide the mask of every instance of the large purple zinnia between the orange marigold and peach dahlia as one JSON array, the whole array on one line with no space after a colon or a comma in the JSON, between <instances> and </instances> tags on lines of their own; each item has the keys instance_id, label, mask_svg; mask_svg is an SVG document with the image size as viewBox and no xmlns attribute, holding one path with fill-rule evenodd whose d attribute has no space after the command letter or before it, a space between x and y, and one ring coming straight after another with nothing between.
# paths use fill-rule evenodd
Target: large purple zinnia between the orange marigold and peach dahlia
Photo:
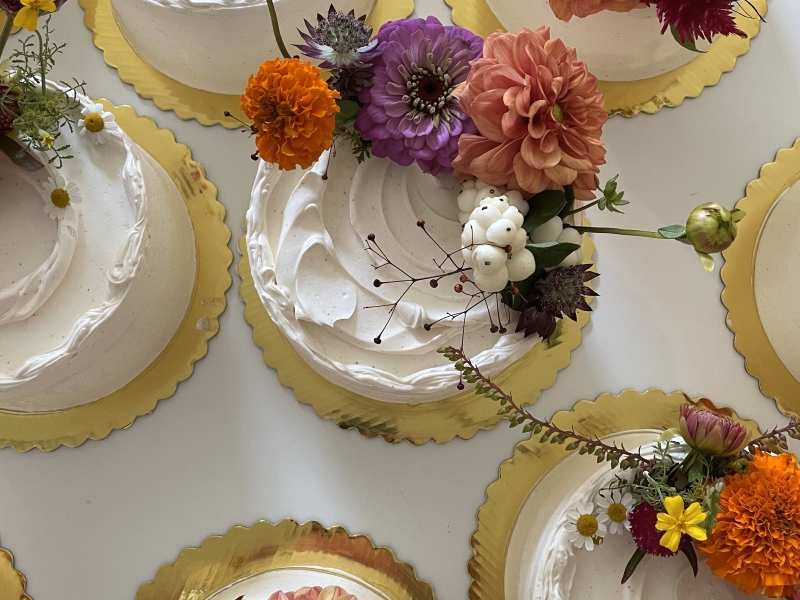
<instances>
[{"instance_id":1,"label":"large purple zinnia between the orange marigold and peach dahlia","mask_svg":"<svg viewBox=\"0 0 800 600\"><path fill-rule=\"evenodd\" d=\"M356 119L372 153L426 173L452 171L458 137L476 133L454 91L480 58L483 40L435 17L403 19L383 25L372 86L359 93L364 107Z\"/></svg>"}]
</instances>

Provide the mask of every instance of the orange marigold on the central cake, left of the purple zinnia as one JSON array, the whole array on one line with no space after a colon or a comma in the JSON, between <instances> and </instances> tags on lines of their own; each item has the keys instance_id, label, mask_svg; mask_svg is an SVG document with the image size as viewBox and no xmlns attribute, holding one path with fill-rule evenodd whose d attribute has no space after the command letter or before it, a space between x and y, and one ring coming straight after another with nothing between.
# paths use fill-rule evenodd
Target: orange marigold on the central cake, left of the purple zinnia
<instances>
[{"instance_id":1,"label":"orange marigold on the central cake, left of the purple zinnia","mask_svg":"<svg viewBox=\"0 0 800 600\"><path fill-rule=\"evenodd\" d=\"M297 58L270 60L242 94L242 112L258 129L258 155L284 171L307 169L333 143L339 92L320 73Z\"/></svg>"}]
</instances>

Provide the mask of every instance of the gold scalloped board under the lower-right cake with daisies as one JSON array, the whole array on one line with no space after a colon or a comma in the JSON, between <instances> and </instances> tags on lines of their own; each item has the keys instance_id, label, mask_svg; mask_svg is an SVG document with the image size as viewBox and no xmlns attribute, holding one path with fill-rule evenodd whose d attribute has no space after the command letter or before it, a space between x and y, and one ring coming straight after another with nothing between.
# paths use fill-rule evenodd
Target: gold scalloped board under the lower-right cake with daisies
<instances>
[{"instance_id":1,"label":"gold scalloped board under the lower-right cake with daisies","mask_svg":"<svg viewBox=\"0 0 800 600\"><path fill-rule=\"evenodd\" d=\"M572 410L557 413L553 422L562 429L574 428L581 435L598 438L630 430L666 430L677 425L680 406L686 403L682 392L626 390L619 396L603 394L593 402L581 400ZM719 410L707 399L694 403L714 408L743 423L750 435L758 435L758 425L740 419L732 409ZM531 438L517 444L513 457L500 465L500 476L486 490L486 503L478 509L478 528L470 540L470 600L521 600L505 592L506 559L517 518L545 475L574 452Z\"/></svg>"}]
</instances>

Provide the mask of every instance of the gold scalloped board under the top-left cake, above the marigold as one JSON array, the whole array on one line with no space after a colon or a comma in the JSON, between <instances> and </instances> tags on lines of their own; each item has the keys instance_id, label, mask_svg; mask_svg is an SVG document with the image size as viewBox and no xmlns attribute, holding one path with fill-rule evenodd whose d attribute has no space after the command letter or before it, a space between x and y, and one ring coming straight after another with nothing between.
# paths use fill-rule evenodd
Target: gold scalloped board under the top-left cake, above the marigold
<instances>
[{"instance_id":1,"label":"gold scalloped board under the top-left cake, above the marigold","mask_svg":"<svg viewBox=\"0 0 800 600\"><path fill-rule=\"evenodd\" d=\"M149 98L161 110L171 110L180 119L195 119L205 126L222 125L238 129L241 123L224 117L230 111L246 120L239 110L239 96L198 90L157 71L128 42L117 24L111 0L79 0L86 14L83 22L92 30L94 45L103 51L103 60L119 73L119 78L133 85L142 98ZM372 23L374 27L407 17L414 11L414 0L377 0ZM311 15L313 16L313 15ZM269 57L265 57L269 58ZM247 82L242 82L242 90Z\"/></svg>"}]
</instances>

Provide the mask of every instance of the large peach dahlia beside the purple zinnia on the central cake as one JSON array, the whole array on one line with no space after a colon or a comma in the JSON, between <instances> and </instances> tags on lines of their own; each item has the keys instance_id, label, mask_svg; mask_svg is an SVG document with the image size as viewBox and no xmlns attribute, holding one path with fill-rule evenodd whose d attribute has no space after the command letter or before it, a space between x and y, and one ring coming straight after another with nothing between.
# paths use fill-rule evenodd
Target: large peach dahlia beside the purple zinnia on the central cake
<instances>
[{"instance_id":1,"label":"large peach dahlia beside the purple zinnia on the central cake","mask_svg":"<svg viewBox=\"0 0 800 600\"><path fill-rule=\"evenodd\" d=\"M608 115L575 49L549 27L497 32L472 64L459 96L479 135L459 139L456 177L532 194L572 185L576 198L593 199Z\"/></svg>"}]
</instances>

